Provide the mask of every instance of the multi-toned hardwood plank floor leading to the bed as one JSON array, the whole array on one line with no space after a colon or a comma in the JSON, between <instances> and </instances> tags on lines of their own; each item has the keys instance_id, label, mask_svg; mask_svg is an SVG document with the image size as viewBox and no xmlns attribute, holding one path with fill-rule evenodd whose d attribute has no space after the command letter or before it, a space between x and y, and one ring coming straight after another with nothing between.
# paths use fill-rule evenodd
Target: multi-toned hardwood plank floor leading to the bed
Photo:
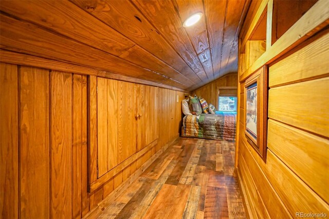
<instances>
[{"instance_id":1,"label":"multi-toned hardwood plank floor leading to the bed","mask_svg":"<svg viewBox=\"0 0 329 219\"><path fill-rule=\"evenodd\" d=\"M98 218L245 218L234 142L178 138Z\"/></svg>"}]
</instances>

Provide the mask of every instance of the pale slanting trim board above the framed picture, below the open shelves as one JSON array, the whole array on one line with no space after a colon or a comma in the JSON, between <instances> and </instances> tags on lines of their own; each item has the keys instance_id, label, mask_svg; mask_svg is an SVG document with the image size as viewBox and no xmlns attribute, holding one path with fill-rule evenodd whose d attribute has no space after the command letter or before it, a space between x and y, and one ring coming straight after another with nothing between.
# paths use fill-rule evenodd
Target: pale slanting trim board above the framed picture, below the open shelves
<instances>
[{"instance_id":1,"label":"pale slanting trim board above the framed picture, below the open shelves","mask_svg":"<svg viewBox=\"0 0 329 219\"><path fill-rule=\"evenodd\" d=\"M319 0L292 27L290 27L260 58L240 76L244 82L250 74L270 64L295 48L329 24L329 1Z\"/></svg>"}]
</instances>

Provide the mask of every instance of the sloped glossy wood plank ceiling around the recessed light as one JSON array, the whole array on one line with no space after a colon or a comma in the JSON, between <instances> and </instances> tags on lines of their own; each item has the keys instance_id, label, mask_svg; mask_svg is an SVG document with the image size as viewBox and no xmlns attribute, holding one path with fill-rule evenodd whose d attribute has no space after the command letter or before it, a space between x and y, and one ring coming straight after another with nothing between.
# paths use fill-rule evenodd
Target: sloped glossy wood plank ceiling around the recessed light
<instances>
[{"instance_id":1,"label":"sloped glossy wood plank ceiling around the recessed light","mask_svg":"<svg viewBox=\"0 0 329 219\"><path fill-rule=\"evenodd\" d=\"M250 1L1 1L1 49L194 90L237 71ZM204 16L188 28L191 14Z\"/></svg>"}]
</instances>

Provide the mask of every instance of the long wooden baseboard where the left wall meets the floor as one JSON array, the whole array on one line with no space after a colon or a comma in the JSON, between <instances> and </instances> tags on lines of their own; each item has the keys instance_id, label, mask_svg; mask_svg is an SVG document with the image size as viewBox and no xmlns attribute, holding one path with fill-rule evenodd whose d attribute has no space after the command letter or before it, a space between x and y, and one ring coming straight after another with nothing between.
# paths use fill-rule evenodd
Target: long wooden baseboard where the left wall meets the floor
<instances>
[{"instance_id":1,"label":"long wooden baseboard where the left wall meets the floor","mask_svg":"<svg viewBox=\"0 0 329 219\"><path fill-rule=\"evenodd\" d=\"M123 192L156 160L168 147L177 140L178 136L173 140L167 142L163 147L157 151L148 161L146 161L138 170L136 170L130 177L128 177L122 184L117 187L113 192L107 195L94 209L90 210L83 218L96 218L98 217L107 206Z\"/></svg>"}]
</instances>

